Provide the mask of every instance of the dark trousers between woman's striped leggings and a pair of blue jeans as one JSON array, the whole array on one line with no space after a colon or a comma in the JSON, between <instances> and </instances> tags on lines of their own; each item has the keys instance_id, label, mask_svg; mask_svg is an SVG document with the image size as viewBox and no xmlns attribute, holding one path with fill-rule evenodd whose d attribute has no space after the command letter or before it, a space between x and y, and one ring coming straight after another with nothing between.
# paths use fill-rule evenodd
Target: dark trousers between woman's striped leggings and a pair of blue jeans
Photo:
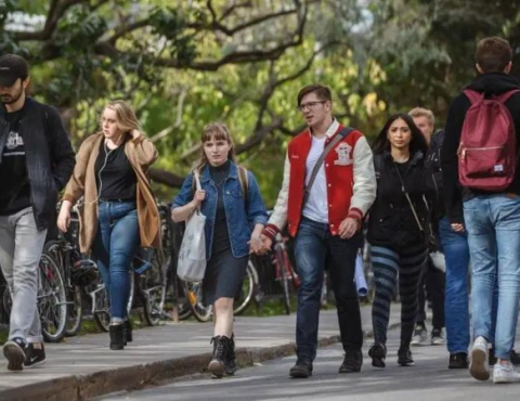
<instances>
[{"instance_id":1,"label":"dark trousers between woman's striped leggings and a pair of blue jeans","mask_svg":"<svg viewBox=\"0 0 520 401\"><path fill-rule=\"evenodd\" d=\"M426 298L431 301L432 325L433 328L444 327L444 272L437 269L428 257L425 274L419 285L419 311L417 312L417 323L426 321Z\"/></svg>"}]
</instances>

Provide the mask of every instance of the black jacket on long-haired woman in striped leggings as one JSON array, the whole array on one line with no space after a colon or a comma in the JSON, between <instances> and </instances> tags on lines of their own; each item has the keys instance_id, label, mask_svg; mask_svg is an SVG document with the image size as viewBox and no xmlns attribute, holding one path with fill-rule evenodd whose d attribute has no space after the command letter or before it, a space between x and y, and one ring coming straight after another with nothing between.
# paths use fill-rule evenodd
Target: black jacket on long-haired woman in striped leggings
<instances>
[{"instance_id":1,"label":"black jacket on long-haired woman in striped leggings","mask_svg":"<svg viewBox=\"0 0 520 401\"><path fill-rule=\"evenodd\" d=\"M402 191L396 167L389 152L374 155L377 177L377 196L369 211L367 241L370 245L394 249L412 244L427 244L410 203ZM428 206L424 199L425 157L422 152L411 155L408 168L402 173L405 190L425 228L429 224Z\"/></svg>"}]
</instances>

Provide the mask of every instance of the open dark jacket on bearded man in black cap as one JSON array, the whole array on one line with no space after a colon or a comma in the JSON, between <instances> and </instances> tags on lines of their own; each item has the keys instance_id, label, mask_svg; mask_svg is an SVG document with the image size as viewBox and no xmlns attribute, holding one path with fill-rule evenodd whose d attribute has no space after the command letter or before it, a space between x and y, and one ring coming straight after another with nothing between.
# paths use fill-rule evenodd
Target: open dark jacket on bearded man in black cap
<instances>
[{"instance_id":1,"label":"open dark jacket on bearded man in black cap","mask_svg":"<svg viewBox=\"0 0 520 401\"><path fill-rule=\"evenodd\" d=\"M55 216L57 194L67 184L75 153L60 114L54 107L26 99L26 113L20 121L18 133L25 143L30 202L39 231L46 230ZM0 165L10 125L5 109L0 107Z\"/></svg>"}]
</instances>

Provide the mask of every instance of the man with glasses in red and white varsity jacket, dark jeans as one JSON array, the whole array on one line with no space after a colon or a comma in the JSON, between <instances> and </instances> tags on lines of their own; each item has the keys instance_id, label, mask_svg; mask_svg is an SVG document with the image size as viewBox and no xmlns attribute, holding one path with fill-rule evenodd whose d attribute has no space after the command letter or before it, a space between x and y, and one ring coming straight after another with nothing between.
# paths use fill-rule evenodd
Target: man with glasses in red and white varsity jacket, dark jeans
<instances>
[{"instance_id":1,"label":"man with glasses in red and white varsity jacket, dark jeans","mask_svg":"<svg viewBox=\"0 0 520 401\"><path fill-rule=\"evenodd\" d=\"M355 256L362 243L361 222L376 197L372 151L360 131L344 130L333 117L329 88L322 85L302 88L298 93L298 109L309 128L288 145L282 190L262 236L264 247L270 248L288 223L289 234L295 237L296 266L302 284L298 290L296 323L298 360L290 376L312 375L326 268L346 352L339 372L359 372L363 364L363 332L353 279ZM304 202L317 159L336 135L344 133L323 160Z\"/></svg>"}]
</instances>

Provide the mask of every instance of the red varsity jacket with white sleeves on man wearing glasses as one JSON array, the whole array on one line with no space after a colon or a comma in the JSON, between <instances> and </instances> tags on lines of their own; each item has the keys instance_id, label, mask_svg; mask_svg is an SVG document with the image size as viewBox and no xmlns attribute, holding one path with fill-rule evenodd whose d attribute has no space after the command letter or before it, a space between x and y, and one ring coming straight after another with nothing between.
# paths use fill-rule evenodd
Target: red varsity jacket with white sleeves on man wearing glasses
<instances>
[{"instance_id":1,"label":"red varsity jacket with white sleeves on man wearing glasses","mask_svg":"<svg viewBox=\"0 0 520 401\"><path fill-rule=\"evenodd\" d=\"M336 120L337 129L328 135L325 146L343 128ZM284 181L273 215L263 233L272 240L288 223L288 231L296 236L301 221L306 184L306 163L312 145L309 129L290 141L284 167ZM354 130L338 142L323 161L327 181L328 224L333 235L339 235L341 221L347 217L361 220L376 198L376 174L372 150L365 137ZM309 171L311 173L311 171ZM311 190L312 191L312 190Z\"/></svg>"}]
</instances>

